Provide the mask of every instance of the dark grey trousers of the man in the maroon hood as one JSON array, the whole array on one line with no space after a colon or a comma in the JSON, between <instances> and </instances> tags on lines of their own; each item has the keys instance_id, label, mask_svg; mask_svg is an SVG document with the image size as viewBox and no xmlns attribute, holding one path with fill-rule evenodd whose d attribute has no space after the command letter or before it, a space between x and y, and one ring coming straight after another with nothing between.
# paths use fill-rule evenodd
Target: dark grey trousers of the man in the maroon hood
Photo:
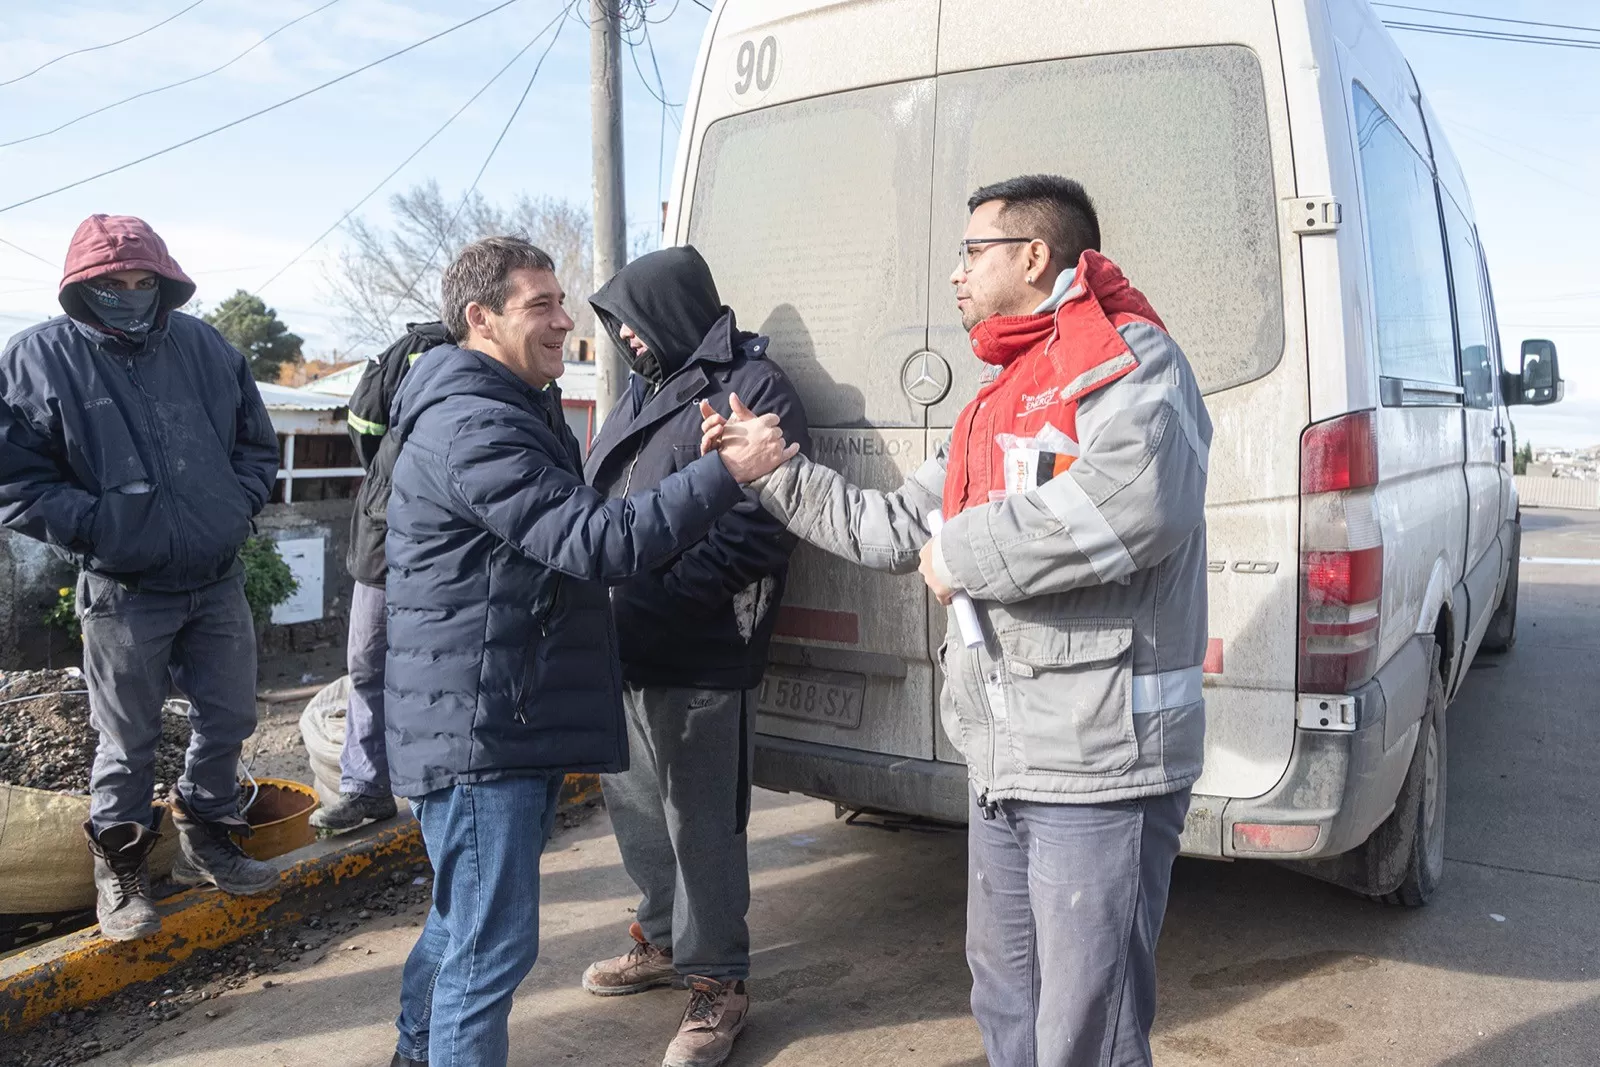
<instances>
[{"instance_id":1,"label":"dark grey trousers of the man in the maroon hood","mask_svg":"<svg viewBox=\"0 0 1600 1067\"><path fill-rule=\"evenodd\" d=\"M189 697L178 795L197 817L238 814L238 753L256 731L256 625L245 577L187 593L136 592L83 573L77 589L90 723L99 733L90 822L150 825L162 705Z\"/></svg>"}]
</instances>

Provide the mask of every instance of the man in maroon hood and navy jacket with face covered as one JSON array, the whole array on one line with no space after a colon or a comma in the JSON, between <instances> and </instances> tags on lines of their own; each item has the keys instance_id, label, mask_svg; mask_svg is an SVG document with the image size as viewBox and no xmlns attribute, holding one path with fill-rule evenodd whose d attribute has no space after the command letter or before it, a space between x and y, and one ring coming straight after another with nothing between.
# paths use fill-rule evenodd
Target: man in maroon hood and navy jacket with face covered
<instances>
[{"instance_id":1,"label":"man in maroon hood and navy jacket with face covered","mask_svg":"<svg viewBox=\"0 0 1600 1067\"><path fill-rule=\"evenodd\" d=\"M195 285L141 219L94 214L67 250L61 307L0 354L0 525L82 568L83 673L99 747L90 821L96 910L114 941L155 933L147 857L155 747L189 697L171 795L173 877L229 893L277 881L234 841L238 753L256 728L256 637L238 549L278 446L250 366L178 307Z\"/></svg>"}]
</instances>

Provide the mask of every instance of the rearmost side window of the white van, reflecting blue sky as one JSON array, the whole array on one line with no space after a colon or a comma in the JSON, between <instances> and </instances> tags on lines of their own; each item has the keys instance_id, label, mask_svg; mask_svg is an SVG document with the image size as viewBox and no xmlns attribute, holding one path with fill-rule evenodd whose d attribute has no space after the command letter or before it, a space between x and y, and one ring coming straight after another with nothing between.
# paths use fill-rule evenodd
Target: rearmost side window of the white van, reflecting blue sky
<instances>
[{"instance_id":1,"label":"rearmost side window of the white van, reflecting blue sky","mask_svg":"<svg viewBox=\"0 0 1600 1067\"><path fill-rule=\"evenodd\" d=\"M1355 86L1378 366L1384 378L1456 386L1450 282L1434 174L1389 115Z\"/></svg>"}]
</instances>

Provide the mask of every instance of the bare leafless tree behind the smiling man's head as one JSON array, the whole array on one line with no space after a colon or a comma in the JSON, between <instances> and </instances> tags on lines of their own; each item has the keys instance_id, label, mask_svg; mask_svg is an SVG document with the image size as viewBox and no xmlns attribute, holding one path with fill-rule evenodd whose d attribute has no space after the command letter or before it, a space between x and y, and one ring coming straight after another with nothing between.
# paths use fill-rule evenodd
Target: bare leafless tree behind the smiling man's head
<instances>
[{"instance_id":1,"label":"bare leafless tree behind the smiling man's head","mask_svg":"<svg viewBox=\"0 0 1600 1067\"><path fill-rule=\"evenodd\" d=\"M344 312L349 339L387 344L408 322L440 317L438 280L462 246L493 234L518 234L555 259L566 290L573 338L594 336L594 240L589 211L554 197L522 197L510 208L474 192L462 203L429 181L389 198L392 227L366 219L346 226L346 246L326 275L333 302Z\"/></svg>"}]
</instances>

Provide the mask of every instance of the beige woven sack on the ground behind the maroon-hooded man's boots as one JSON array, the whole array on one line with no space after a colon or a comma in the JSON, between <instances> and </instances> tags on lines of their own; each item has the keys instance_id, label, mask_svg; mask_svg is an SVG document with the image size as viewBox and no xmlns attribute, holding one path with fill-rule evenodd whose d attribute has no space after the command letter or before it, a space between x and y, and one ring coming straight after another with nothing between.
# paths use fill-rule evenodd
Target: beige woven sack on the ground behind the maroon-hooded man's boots
<instances>
[{"instance_id":1,"label":"beige woven sack on the ground behind the maroon-hooded man's boots","mask_svg":"<svg viewBox=\"0 0 1600 1067\"><path fill-rule=\"evenodd\" d=\"M178 854L162 808L162 840L150 877L165 878ZM94 907L94 859L83 840L90 798L0 784L0 913L42 915Z\"/></svg>"}]
</instances>

